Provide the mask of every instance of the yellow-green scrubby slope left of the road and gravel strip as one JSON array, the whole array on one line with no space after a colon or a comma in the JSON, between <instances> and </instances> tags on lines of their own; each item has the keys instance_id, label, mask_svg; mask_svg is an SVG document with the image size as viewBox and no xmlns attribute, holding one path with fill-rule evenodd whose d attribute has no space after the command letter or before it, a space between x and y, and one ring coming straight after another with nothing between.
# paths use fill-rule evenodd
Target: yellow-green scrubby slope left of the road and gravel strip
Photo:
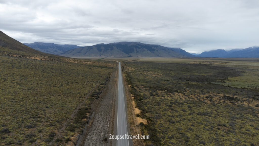
<instances>
[{"instance_id":1,"label":"yellow-green scrubby slope left of the road and gravel strip","mask_svg":"<svg viewBox=\"0 0 259 146\"><path fill-rule=\"evenodd\" d=\"M0 49L0 145L48 145L89 91L104 88L115 66ZM95 98L88 98L57 142L75 142L71 137L86 124L82 119Z\"/></svg>"}]
</instances>

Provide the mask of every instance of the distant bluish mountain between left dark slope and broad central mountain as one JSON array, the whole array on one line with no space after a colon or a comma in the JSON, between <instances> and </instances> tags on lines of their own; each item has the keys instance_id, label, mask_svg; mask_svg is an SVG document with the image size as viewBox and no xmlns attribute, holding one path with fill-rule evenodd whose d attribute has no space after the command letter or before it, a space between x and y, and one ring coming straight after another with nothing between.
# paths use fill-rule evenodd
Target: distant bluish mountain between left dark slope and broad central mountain
<instances>
[{"instance_id":1,"label":"distant bluish mountain between left dark slope and broad central mountain","mask_svg":"<svg viewBox=\"0 0 259 146\"><path fill-rule=\"evenodd\" d=\"M79 46L77 45L59 45L54 43L42 43L42 42L24 43L24 44L35 50L45 52L45 53L55 54L55 55L66 52L71 49L79 48Z\"/></svg>"}]
</instances>

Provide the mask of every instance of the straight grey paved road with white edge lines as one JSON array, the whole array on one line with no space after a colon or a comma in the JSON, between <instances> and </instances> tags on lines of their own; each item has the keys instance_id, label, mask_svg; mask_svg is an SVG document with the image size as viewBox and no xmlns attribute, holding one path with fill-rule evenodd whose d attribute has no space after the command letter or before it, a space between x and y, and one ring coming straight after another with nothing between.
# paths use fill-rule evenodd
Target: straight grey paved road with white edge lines
<instances>
[{"instance_id":1,"label":"straight grey paved road with white edge lines","mask_svg":"<svg viewBox=\"0 0 259 146\"><path fill-rule=\"evenodd\" d=\"M118 109L117 109L117 135L125 136L128 135L127 119L126 119L126 108L124 100L124 88L121 75L121 66L119 62L119 77L118 77ZM117 140L117 146L128 146L128 139Z\"/></svg>"}]
</instances>

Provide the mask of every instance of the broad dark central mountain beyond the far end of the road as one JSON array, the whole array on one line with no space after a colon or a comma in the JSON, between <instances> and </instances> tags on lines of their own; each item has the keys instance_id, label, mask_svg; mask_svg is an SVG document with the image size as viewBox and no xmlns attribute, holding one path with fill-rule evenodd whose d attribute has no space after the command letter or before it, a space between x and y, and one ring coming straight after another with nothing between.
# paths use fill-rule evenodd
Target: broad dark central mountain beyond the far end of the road
<instances>
[{"instance_id":1,"label":"broad dark central mountain beyond the far end of the road","mask_svg":"<svg viewBox=\"0 0 259 146\"><path fill-rule=\"evenodd\" d=\"M194 57L179 48L137 42L97 44L71 49L59 55L67 57Z\"/></svg>"}]
</instances>

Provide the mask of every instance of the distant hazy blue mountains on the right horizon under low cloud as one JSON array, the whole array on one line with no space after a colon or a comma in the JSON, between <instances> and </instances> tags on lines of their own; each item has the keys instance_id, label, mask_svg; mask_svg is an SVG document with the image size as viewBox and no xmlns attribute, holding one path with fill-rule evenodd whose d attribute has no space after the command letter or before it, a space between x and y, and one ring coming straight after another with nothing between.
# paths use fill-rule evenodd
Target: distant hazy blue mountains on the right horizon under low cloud
<instances>
[{"instance_id":1,"label":"distant hazy blue mountains on the right horizon under low cloud","mask_svg":"<svg viewBox=\"0 0 259 146\"><path fill-rule=\"evenodd\" d=\"M218 49L205 51L197 57L220 57L220 58L259 58L259 47L249 47L246 49L232 49L229 51Z\"/></svg>"}]
</instances>

